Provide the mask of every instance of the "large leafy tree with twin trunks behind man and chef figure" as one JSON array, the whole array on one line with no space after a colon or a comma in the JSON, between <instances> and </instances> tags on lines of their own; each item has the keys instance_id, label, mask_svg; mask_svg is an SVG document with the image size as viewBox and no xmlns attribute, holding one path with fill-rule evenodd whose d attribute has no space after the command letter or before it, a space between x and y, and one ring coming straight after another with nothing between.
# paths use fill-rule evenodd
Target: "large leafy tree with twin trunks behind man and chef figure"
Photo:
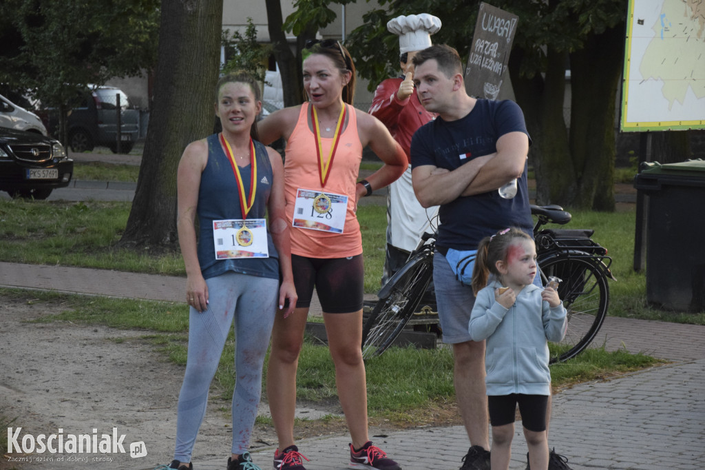
<instances>
[{"instance_id":1,"label":"large leafy tree with twin trunks behind man and chef figure","mask_svg":"<svg viewBox=\"0 0 705 470\"><path fill-rule=\"evenodd\" d=\"M443 27L432 40L469 54L480 1L380 0L348 45L370 88L397 73L398 42L386 22L431 13ZM520 17L509 72L534 144L537 201L613 210L615 100L623 68L627 0L496 0ZM384 44L384 47L380 47ZM570 68L570 80L566 71ZM565 86L571 102L565 103ZM570 106L568 126L563 109Z\"/></svg>"}]
</instances>

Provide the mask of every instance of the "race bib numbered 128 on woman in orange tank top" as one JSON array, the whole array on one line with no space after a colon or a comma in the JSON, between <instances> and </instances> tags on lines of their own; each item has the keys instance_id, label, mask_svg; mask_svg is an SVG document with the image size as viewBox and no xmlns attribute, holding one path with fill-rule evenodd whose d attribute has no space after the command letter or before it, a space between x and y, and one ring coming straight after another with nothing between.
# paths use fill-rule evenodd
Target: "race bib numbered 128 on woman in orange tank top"
<instances>
[{"instance_id":1,"label":"race bib numbered 128 on woman in orange tank top","mask_svg":"<svg viewBox=\"0 0 705 470\"><path fill-rule=\"evenodd\" d=\"M342 234L347 211L346 195L298 189L292 226Z\"/></svg>"}]
</instances>

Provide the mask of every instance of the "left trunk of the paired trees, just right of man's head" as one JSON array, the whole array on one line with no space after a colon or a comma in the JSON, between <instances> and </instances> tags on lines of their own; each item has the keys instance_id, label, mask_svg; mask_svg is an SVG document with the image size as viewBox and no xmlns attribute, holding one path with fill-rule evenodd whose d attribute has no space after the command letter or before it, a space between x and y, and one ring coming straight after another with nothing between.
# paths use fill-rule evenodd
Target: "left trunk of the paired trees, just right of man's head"
<instances>
[{"instance_id":1,"label":"left trunk of the paired trees, just right of man's head","mask_svg":"<svg viewBox=\"0 0 705 470\"><path fill-rule=\"evenodd\" d=\"M566 54L548 50L545 78L538 74L532 78L520 76L524 54L520 48L513 49L509 70L517 103L524 111L532 138L529 162L537 181L536 200L538 204L565 204L575 187L563 118Z\"/></svg>"}]
</instances>

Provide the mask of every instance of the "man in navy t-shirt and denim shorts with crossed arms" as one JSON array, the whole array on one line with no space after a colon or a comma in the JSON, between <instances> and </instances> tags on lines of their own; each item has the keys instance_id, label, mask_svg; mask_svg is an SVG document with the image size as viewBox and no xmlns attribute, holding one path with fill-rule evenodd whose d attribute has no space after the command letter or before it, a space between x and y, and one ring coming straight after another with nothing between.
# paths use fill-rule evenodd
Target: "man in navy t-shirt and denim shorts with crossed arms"
<instances>
[{"instance_id":1,"label":"man in navy t-shirt and denim shorts with crossed arms","mask_svg":"<svg viewBox=\"0 0 705 470\"><path fill-rule=\"evenodd\" d=\"M455 395L471 444L462 469L489 469L484 342L470 339L472 287L458 280L446 255L451 248L477 250L485 236L506 227L532 233L530 140L516 103L467 95L455 49L436 44L419 52L413 62L419 100L439 114L412 138L412 183L422 206L440 206L434 285L443 342L453 344ZM501 198L498 188L515 178L515 197Z\"/></svg>"}]
</instances>

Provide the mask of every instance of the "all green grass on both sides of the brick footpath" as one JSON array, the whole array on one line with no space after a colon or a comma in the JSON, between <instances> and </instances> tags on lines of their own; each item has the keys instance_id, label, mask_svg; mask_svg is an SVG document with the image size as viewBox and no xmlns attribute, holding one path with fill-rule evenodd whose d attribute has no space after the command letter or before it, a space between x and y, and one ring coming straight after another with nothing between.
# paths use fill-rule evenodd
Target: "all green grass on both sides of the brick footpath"
<instances>
[{"instance_id":1,"label":"all green grass on both sides of the brick footpath","mask_svg":"<svg viewBox=\"0 0 705 470\"><path fill-rule=\"evenodd\" d=\"M130 174L136 171L136 167L117 167L88 169L81 165L79 168L82 169L77 174L83 179L100 178L106 174L129 179L133 177ZM89 176L91 171L94 176ZM129 211L129 203L119 202L0 200L0 239L3 240L0 243L0 260L183 276L183 261L179 253L135 252L116 248ZM357 212L362 227L365 291L368 293L379 289L384 263L385 211L385 207L366 205L360 206ZM675 314L646 305L645 274L632 270L634 210L609 213L575 211L572 215L572 222L565 227L594 229L593 238L608 248L608 254L614 260L612 271L618 281L609 283L610 315L705 325L705 313ZM145 340L162 349L172 361L185 364L188 308L184 304L47 292L32 292L30 295L26 291L0 289L0 299L11 298L61 301L66 309L51 321L100 323L145 330ZM229 397L232 393L232 354L231 338L223 351L223 361L216 376L222 397ZM369 361L370 416L403 423L414 420L424 410L453 401L452 363L448 349L392 349L380 358ZM594 380L654 363L652 358L641 354L594 349L568 363L552 366L553 385L563 387L576 381ZM316 402L335 396L335 378L327 347L311 343L304 349L299 377L300 399Z\"/></svg>"}]
</instances>

